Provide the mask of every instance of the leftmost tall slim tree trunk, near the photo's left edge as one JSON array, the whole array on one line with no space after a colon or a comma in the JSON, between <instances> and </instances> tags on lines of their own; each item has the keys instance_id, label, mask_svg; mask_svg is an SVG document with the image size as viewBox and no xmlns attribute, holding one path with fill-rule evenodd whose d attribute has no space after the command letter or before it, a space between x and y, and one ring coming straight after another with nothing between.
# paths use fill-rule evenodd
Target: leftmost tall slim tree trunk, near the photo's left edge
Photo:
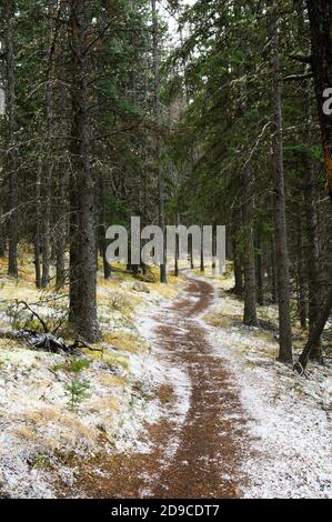
<instances>
[{"instance_id":1,"label":"leftmost tall slim tree trunk, near the photo's left edge","mask_svg":"<svg viewBox=\"0 0 332 522\"><path fill-rule=\"evenodd\" d=\"M17 151L17 122L16 122L16 56L13 22L16 1L7 2L7 98L8 98L8 154L7 168L9 175L9 260L8 273L17 278L18 271L18 242L19 242L19 182L18 182L18 151Z\"/></svg>"}]
</instances>

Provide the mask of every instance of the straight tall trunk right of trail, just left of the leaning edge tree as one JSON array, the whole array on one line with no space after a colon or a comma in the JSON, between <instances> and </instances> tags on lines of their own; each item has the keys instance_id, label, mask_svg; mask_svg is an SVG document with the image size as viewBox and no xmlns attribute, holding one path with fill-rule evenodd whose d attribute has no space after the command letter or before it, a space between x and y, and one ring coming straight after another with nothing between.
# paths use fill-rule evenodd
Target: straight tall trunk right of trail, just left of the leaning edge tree
<instances>
[{"instance_id":1,"label":"straight tall trunk right of trail, just left of the leaning edge tree","mask_svg":"<svg viewBox=\"0 0 332 522\"><path fill-rule=\"evenodd\" d=\"M292 327L290 313L290 269L288 252L288 234L285 219L284 171L283 171L283 137L280 89L280 57L276 18L276 1L269 0L269 36L271 44L272 70L272 148L273 148L273 184L274 184L274 229L278 268L279 297L279 360L292 361Z\"/></svg>"}]
</instances>

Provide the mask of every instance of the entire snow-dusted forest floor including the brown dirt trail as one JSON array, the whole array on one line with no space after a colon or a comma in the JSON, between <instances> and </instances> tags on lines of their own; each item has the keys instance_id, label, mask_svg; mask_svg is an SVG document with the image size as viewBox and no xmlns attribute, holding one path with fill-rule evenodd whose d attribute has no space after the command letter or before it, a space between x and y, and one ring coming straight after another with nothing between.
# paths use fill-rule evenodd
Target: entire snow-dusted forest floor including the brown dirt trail
<instances>
[{"instance_id":1,"label":"entire snow-dusted forest floor including the brown dirt trail","mask_svg":"<svg viewBox=\"0 0 332 522\"><path fill-rule=\"evenodd\" d=\"M103 354L77 373L1 340L0 496L331 498L330 360L308 379L278 363L275 309L260 309L264 329L243 327L232 284L100 277ZM0 328L14 299L61 313L67 298L50 293L1 278ZM73 379L89 382L74 410Z\"/></svg>"}]
</instances>

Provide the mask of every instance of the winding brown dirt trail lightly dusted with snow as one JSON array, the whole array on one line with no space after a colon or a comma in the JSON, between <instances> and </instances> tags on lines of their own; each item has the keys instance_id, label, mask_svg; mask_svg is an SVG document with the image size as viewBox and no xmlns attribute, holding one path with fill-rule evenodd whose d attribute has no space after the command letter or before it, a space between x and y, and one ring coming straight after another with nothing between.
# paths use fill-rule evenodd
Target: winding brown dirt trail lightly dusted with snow
<instances>
[{"instance_id":1,"label":"winding brown dirt trail lightly dusted with snow","mask_svg":"<svg viewBox=\"0 0 332 522\"><path fill-rule=\"evenodd\" d=\"M155 334L167 364L181 369L187 377L187 414L181 418L177 411L171 384L160 389L167 415L150 430L153 450L100 463L100 474L87 466L80 482L89 496L177 499L241 494L239 464L245 445L244 414L232 375L214 355L199 320L212 299L209 283L190 280L183 299L155 318Z\"/></svg>"}]
</instances>

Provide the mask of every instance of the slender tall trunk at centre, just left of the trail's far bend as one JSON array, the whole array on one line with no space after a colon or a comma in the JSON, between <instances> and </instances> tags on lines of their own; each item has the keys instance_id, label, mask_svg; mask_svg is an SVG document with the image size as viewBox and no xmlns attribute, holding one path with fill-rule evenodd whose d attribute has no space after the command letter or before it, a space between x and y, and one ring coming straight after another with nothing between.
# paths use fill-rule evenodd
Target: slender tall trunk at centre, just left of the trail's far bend
<instances>
[{"instance_id":1,"label":"slender tall trunk at centre, just left of the trail's far bend","mask_svg":"<svg viewBox=\"0 0 332 522\"><path fill-rule=\"evenodd\" d=\"M154 73L154 119L158 128L161 127L161 104L160 104L160 49L159 49L159 22L157 13L157 0L151 0L152 26L153 26L153 73ZM157 129L155 160L158 169L158 199L159 199L159 227L163 232L163 260L160 263L160 281L168 282L167 274L167 248L165 248L165 215L164 215L164 187L163 175L160 165L161 139L160 130Z\"/></svg>"}]
</instances>

